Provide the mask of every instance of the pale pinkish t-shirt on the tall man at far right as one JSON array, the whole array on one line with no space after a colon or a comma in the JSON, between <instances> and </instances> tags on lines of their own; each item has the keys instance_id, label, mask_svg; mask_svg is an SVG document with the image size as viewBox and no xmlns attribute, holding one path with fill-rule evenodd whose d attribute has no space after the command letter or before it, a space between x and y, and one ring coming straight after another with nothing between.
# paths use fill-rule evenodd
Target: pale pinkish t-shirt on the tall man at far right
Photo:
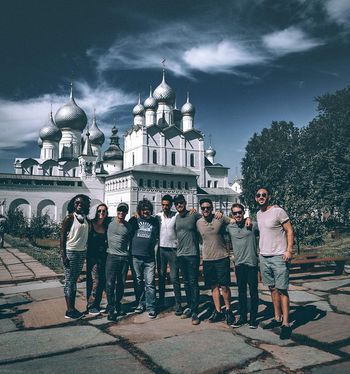
<instances>
[{"instance_id":1,"label":"pale pinkish t-shirt on the tall man at far right","mask_svg":"<svg viewBox=\"0 0 350 374\"><path fill-rule=\"evenodd\" d=\"M282 224L289 220L285 210L273 206L262 212L258 211L256 218L260 231L259 248L262 256L279 256L287 250L287 237Z\"/></svg>"}]
</instances>

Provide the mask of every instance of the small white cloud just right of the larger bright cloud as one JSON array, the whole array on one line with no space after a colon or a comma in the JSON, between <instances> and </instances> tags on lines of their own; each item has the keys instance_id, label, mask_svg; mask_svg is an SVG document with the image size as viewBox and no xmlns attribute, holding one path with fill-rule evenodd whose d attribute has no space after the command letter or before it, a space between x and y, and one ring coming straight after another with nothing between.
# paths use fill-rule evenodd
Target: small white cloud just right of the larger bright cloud
<instances>
[{"instance_id":1,"label":"small white cloud just right of the larger bright cloud","mask_svg":"<svg viewBox=\"0 0 350 374\"><path fill-rule=\"evenodd\" d=\"M276 56L304 52L323 44L321 40L308 37L303 30L295 26L266 34L262 37L262 41L263 45Z\"/></svg>"}]
</instances>

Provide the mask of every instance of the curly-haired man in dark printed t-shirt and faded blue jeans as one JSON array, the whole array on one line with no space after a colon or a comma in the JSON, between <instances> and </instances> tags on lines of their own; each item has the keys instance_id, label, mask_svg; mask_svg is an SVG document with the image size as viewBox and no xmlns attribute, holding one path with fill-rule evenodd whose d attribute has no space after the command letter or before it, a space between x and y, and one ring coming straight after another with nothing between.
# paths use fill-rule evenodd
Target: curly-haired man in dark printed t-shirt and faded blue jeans
<instances>
[{"instance_id":1,"label":"curly-haired man in dark printed t-shirt and faded blue jeans","mask_svg":"<svg viewBox=\"0 0 350 374\"><path fill-rule=\"evenodd\" d=\"M159 239L159 222L152 217L153 205L141 200L137 205L137 217L131 217L131 254L136 276L136 313L148 312L154 319L156 312L155 246Z\"/></svg>"}]
</instances>

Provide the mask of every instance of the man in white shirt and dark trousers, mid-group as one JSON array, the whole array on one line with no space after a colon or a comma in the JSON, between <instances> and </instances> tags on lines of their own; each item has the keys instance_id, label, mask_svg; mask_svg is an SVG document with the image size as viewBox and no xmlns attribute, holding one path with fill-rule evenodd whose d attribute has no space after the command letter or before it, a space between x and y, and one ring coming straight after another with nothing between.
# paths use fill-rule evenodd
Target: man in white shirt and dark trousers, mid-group
<instances>
[{"instance_id":1,"label":"man in white shirt and dark trousers, mid-group","mask_svg":"<svg viewBox=\"0 0 350 374\"><path fill-rule=\"evenodd\" d=\"M175 219L177 213L171 210L173 198L170 195L162 197L162 211L157 213L159 219L160 235L157 260L159 260L159 305L164 305L165 280L167 267L170 268L170 281L174 287L175 315L182 314L181 287L179 279L179 265L176 258L177 239L175 232Z\"/></svg>"}]
</instances>

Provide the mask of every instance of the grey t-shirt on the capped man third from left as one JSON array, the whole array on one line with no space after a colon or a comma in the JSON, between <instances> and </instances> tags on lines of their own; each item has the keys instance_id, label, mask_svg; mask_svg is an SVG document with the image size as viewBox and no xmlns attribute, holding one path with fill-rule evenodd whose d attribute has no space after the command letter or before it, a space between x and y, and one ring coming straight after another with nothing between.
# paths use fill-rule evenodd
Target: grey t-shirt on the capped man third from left
<instances>
[{"instance_id":1,"label":"grey t-shirt on the capped man third from left","mask_svg":"<svg viewBox=\"0 0 350 374\"><path fill-rule=\"evenodd\" d=\"M107 253L118 256L129 256L129 242L131 235L131 226L128 222L119 223L114 218L108 225Z\"/></svg>"}]
</instances>

